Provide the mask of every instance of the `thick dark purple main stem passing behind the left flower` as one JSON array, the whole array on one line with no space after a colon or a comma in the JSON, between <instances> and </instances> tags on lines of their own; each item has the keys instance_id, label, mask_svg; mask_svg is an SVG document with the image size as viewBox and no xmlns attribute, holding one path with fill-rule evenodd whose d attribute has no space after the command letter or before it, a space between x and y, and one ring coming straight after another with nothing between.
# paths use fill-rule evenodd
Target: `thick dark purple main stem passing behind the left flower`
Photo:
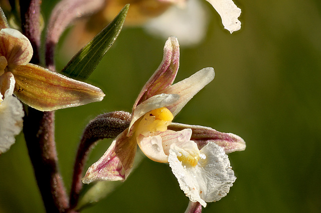
<instances>
[{"instance_id":1,"label":"thick dark purple main stem passing behind the left flower","mask_svg":"<svg viewBox=\"0 0 321 213\"><path fill-rule=\"evenodd\" d=\"M33 46L31 63L34 64L40 62L40 5L41 0L20 1L22 31ZM46 211L66 212L69 203L58 170L54 118L54 112L40 112L29 107L23 131Z\"/></svg>"}]
</instances>

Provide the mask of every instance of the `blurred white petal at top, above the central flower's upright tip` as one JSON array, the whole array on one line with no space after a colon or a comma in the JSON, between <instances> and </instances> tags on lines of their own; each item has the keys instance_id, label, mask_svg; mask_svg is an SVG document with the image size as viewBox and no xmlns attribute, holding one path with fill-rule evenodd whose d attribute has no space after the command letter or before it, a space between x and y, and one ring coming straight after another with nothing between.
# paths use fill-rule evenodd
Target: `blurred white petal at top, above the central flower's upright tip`
<instances>
[{"instance_id":1,"label":"blurred white petal at top, above the central flower's upright tip","mask_svg":"<svg viewBox=\"0 0 321 213\"><path fill-rule=\"evenodd\" d=\"M161 16L152 19L144 26L155 36L178 37L181 45L195 45L204 38L208 26L206 8L199 0L186 1L186 7L174 5Z\"/></svg>"}]
</instances>

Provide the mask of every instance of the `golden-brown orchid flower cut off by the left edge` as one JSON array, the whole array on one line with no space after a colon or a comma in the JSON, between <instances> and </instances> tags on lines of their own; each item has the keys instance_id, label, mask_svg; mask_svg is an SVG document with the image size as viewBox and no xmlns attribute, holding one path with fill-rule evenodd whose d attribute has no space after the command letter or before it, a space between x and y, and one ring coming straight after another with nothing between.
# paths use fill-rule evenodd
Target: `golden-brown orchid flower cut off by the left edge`
<instances>
[{"instance_id":1,"label":"golden-brown orchid flower cut off by the left edge","mask_svg":"<svg viewBox=\"0 0 321 213\"><path fill-rule=\"evenodd\" d=\"M22 130L24 112L18 99L37 110L53 111L100 101L104 96L95 86L29 63L32 56L30 41L9 28L0 8L0 154Z\"/></svg>"}]
</instances>

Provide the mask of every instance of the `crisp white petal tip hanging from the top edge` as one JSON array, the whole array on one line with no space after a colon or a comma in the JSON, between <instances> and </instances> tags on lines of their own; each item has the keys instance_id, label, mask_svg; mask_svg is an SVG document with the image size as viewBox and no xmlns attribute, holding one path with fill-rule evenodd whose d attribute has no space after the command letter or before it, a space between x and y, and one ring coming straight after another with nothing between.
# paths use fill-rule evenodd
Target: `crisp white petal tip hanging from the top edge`
<instances>
[{"instance_id":1,"label":"crisp white petal tip hanging from the top edge","mask_svg":"<svg viewBox=\"0 0 321 213\"><path fill-rule=\"evenodd\" d=\"M238 20L241 9L236 7L232 0L206 0L222 18L224 28L230 33L241 29L241 22Z\"/></svg>"}]
</instances>

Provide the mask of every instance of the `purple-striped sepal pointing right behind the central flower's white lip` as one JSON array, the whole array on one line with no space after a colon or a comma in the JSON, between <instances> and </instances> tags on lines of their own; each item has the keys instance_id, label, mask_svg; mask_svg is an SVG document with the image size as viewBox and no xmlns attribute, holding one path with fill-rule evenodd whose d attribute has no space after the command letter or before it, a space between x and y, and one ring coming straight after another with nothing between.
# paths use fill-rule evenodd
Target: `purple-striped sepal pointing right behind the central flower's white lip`
<instances>
[{"instance_id":1,"label":"purple-striped sepal pointing right behind the central flower's white lip","mask_svg":"<svg viewBox=\"0 0 321 213\"><path fill-rule=\"evenodd\" d=\"M199 149L202 149L209 142L214 142L222 147L226 154L235 151L243 151L246 148L245 141L240 136L233 133L221 133L210 127L171 123L170 126L168 126L168 129L173 131L191 129L191 140L197 143Z\"/></svg>"}]
</instances>

